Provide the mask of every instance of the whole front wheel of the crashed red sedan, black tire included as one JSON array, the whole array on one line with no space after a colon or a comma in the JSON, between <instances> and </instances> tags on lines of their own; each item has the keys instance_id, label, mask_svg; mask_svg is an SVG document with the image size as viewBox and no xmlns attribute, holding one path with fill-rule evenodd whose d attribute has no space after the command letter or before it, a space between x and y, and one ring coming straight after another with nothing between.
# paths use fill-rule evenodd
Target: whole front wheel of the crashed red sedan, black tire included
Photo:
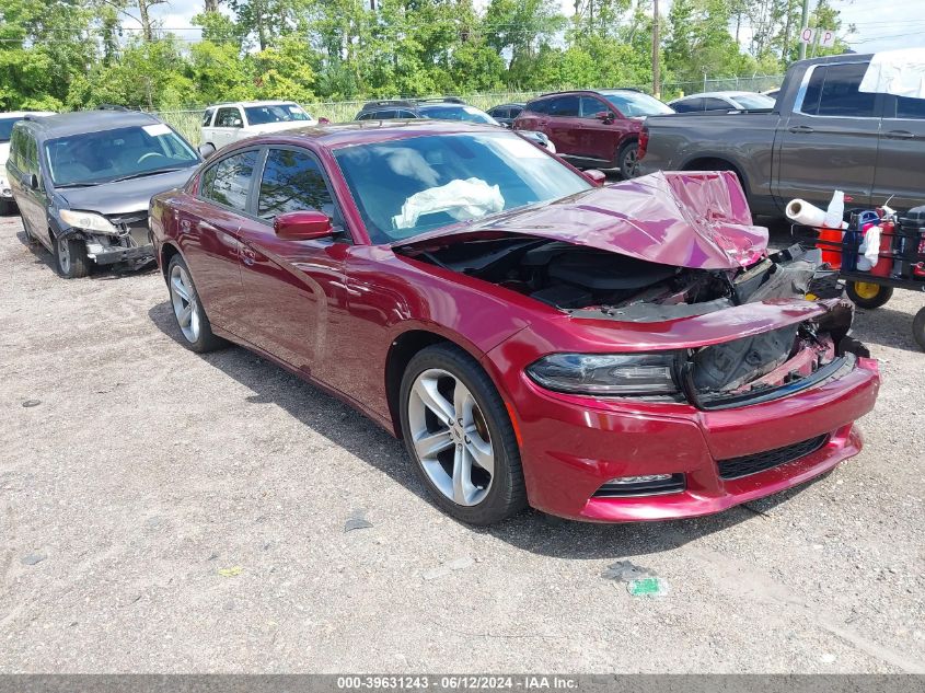
<instances>
[{"instance_id":1,"label":"whole front wheel of the crashed red sedan, black tire included","mask_svg":"<svg viewBox=\"0 0 925 693\"><path fill-rule=\"evenodd\" d=\"M423 349L405 369L398 401L408 454L441 509L485 525L527 507L510 418L471 356L449 344Z\"/></svg>"}]
</instances>

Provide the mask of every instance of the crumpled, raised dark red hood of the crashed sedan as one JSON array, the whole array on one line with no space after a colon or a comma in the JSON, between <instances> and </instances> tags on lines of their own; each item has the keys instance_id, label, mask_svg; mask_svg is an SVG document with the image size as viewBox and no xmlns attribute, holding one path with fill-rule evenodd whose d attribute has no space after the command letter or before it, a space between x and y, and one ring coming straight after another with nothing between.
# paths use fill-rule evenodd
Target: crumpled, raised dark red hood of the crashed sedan
<instances>
[{"instance_id":1,"label":"crumpled, raised dark red hood of the crashed sedan","mask_svg":"<svg viewBox=\"0 0 925 693\"><path fill-rule=\"evenodd\" d=\"M692 269L738 269L767 247L731 171L658 172L540 207L463 222L396 245L476 231L567 241Z\"/></svg>"}]
</instances>

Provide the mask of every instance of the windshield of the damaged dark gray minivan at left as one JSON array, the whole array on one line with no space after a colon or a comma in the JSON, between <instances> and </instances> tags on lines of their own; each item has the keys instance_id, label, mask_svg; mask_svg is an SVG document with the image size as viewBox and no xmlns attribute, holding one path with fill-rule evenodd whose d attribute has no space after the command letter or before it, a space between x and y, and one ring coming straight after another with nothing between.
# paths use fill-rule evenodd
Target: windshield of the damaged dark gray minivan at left
<instances>
[{"instance_id":1,"label":"windshield of the damaged dark gray minivan at left","mask_svg":"<svg viewBox=\"0 0 925 693\"><path fill-rule=\"evenodd\" d=\"M199 163L189 145L163 123L49 140L45 155L57 186L108 183Z\"/></svg>"}]
</instances>

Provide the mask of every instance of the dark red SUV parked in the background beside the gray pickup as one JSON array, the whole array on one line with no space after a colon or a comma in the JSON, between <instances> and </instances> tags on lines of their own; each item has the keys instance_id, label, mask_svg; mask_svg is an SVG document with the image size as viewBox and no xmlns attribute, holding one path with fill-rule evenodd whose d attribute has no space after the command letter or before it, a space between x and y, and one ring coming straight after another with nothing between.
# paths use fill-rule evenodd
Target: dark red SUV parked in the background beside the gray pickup
<instances>
[{"instance_id":1,"label":"dark red SUV parked in the background beside the gray pickup","mask_svg":"<svg viewBox=\"0 0 925 693\"><path fill-rule=\"evenodd\" d=\"M576 166L620 169L633 178L643 120L668 113L674 111L635 89L557 92L527 104L513 129L545 132L558 155Z\"/></svg>"}]
</instances>

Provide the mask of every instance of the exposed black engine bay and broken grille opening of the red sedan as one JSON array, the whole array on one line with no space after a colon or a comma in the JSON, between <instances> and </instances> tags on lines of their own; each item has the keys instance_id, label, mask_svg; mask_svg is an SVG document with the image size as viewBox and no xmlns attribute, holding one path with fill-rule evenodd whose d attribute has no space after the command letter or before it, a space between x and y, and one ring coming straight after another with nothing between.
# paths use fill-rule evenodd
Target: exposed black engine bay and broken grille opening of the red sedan
<instances>
[{"instance_id":1,"label":"exposed black engine bay and broken grille opening of the red sedan","mask_svg":"<svg viewBox=\"0 0 925 693\"><path fill-rule=\"evenodd\" d=\"M692 269L616 252L524 235L464 242L437 239L397 249L446 269L477 277L562 310L573 317L656 323L771 299L833 299L818 319L731 342L690 349L678 379L704 408L793 383L818 382L869 356L847 336L853 307L837 273L818 251L799 245L739 269ZM710 403L716 402L712 407Z\"/></svg>"}]
</instances>

